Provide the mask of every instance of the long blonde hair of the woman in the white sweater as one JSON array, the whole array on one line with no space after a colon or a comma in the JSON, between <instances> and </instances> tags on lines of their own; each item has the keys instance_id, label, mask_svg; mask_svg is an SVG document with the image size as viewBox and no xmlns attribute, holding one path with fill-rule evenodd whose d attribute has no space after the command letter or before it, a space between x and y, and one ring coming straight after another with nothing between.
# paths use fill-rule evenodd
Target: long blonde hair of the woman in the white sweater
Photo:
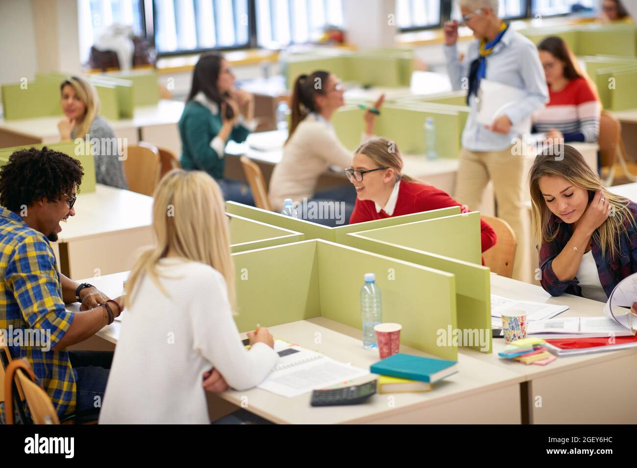
<instances>
[{"instance_id":1,"label":"long blonde hair of the woman in the white sweater","mask_svg":"<svg viewBox=\"0 0 637 468\"><path fill-rule=\"evenodd\" d=\"M127 306L135 287L145 275L166 296L159 282L157 262L169 250L178 257L210 265L225 278L230 303L234 300L234 264L224 197L217 182L203 171L173 169L162 178L153 194L153 230L157 245L136 259L126 281Z\"/></svg>"}]
</instances>

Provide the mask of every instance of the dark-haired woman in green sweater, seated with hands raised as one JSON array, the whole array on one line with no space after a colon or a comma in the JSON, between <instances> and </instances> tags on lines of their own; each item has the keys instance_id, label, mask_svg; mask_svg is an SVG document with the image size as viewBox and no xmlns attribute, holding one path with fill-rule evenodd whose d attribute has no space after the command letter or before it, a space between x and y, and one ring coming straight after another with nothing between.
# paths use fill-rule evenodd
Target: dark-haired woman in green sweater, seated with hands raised
<instances>
[{"instance_id":1,"label":"dark-haired woman in green sweater, seated with hands raised","mask_svg":"<svg viewBox=\"0 0 637 468\"><path fill-rule=\"evenodd\" d=\"M183 169L213 176L226 201L254 205L247 183L224 178L224 150L229 139L241 143L256 126L254 96L234 89L228 62L217 53L201 55L179 120Z\"/></svg>"}]
</instances>

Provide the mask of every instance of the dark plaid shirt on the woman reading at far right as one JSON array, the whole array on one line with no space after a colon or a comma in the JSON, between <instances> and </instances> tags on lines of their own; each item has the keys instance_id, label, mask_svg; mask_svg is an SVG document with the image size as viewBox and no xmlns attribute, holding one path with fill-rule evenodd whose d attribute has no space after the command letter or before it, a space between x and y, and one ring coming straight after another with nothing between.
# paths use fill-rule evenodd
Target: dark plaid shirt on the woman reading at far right
<instances>
[{"instance_id":1,"label":"dark plaid shirt on the woman reading at far right","mask_svg":"<svg viewBox=\"0 0 637 468\"><path fill-rule=\"evenodd\" d=\"M628 205L628 209L633 213L637 221L637 204L631 201ZM573 235L573 227L555 215L551 215L549 225L554 232L557 230L557 236L555 236L555 239L551 243L541 245L539 253L541 270L540 283L542 287L553 296L564 293L581 296L582 288L578 286L579 281L577 278L560 281L553 271L553 260L562 252L564 247L567 246L566 242ZM615 288L621 280L637 272L637 227L629 220L626 220L624 225L626 226L627 232L622 234L620 238L619 255L617 255L617 258L611 259L608 252L603 256L601 246L599 246L594 239L590 244L590 250L592 250L599 273L599 282L604 288L606 297L610 296L610 293L613 292L613 288Z\"/></svg>"}]
</instances>

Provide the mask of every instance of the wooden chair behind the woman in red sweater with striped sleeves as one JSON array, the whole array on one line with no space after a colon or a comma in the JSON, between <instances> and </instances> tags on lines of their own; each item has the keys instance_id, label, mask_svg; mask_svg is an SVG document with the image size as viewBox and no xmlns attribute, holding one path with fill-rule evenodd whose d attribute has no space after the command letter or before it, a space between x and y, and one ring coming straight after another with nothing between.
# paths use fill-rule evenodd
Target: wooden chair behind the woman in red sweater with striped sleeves
<instances>
[{"instance_id":1,"label":"wooden chair behind the woman in red sweater with striped sleeves","mask_svg":"<svg viewBox=\"0 0 637 468\"><path fill-rule=\"evenodd\" d=\"M626 162L626 148L622 141L622 124L607 111L602 111L599 118L599 166L601 166L602 183L605 187L613 185L617 162L629 181L636 182L633 170L637 169L634 163Z\"/></svg>"}]
</instances>

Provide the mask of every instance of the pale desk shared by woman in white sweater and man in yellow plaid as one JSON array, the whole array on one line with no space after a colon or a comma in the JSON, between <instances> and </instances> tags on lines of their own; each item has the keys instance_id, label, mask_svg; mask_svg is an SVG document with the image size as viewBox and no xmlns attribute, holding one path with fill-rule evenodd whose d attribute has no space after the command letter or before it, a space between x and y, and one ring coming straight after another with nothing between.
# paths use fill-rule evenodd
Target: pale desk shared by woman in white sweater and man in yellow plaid
<instances>
[{"instance_id":1,"label":"pale desk shared by woman in white sweater and man in yellow plaid","mask_svg":"<svg viewBox=\"0 0 637 468\"><path fill-rule=\"evenodd\" d=\"M121 294L122 281L127 275L117 273L90 278L90 281L104 293L116 297ZM75 304L71 309L77 307L78 304ZM120 327L120 323L113 323L97 335L117 344ZM362 347L361 330L332 320L314 318L278 325L269 330L275 337L294 341L357 367L368 369L369 365L378 361L377 350ZM320 344L315 343L317 333L320 333ZM401 351L424 355L406 346ZM369 376L359 381L368 379ZM247 397L249 411L276 423L520 423L519 385L523 380L515 372L497 369L475 357L461 355L459 373L436 384L431 392L376 394L365 404L356 406L312 408L311 394L285 398L259 388L224 392L220 396L237 406Z\"/></svg>"}]
</instances>

